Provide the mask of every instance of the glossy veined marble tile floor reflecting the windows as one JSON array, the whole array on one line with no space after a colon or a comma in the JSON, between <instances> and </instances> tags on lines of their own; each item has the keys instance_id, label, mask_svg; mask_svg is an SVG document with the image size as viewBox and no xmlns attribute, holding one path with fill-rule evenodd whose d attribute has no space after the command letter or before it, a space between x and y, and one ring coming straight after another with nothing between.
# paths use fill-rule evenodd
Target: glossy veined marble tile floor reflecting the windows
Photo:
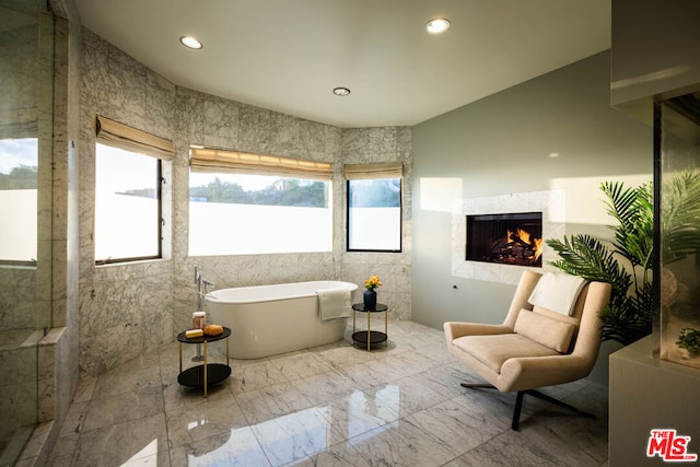
<instances>
[{"instance_id":1,"label":"glossy veined marble tile floor reflecting the windows","mask_svg":"<svg viewBox=\"0 0 700 467\"><path fill-rule=\"evenodd\" d=\"M607 388L587 381L545 392L596 415L573 416L478 381L442 331L389 322L372 352L345 340L260 360L231 360L210 389L177 383L178 345L83 381L50 455L52 466L602 466ZM231 342L235 346L235 342ZM225 346L210 346L225 360ZM188 349L190 348L190 349ZM195 346L184 346L192 365ZM219 359L219 360L217 360Z\"/></svg>"}]
</instances>

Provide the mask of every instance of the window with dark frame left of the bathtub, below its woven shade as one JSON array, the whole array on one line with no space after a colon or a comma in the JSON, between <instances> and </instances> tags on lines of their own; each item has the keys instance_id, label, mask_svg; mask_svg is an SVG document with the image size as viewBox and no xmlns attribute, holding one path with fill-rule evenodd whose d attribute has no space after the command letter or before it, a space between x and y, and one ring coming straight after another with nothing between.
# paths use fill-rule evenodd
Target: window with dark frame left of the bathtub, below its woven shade
<instances>
[{"instance_id":1,"label":"window with dark frame left of the bathtub, below its woven shade","mask_svg":"<svg viewBox=\"0 0 700 467\"><path fill-rule=\"evenodd\" d=\"M161 257L161 160L96 144L95 261Z\"/></svg>"}]
</instances>

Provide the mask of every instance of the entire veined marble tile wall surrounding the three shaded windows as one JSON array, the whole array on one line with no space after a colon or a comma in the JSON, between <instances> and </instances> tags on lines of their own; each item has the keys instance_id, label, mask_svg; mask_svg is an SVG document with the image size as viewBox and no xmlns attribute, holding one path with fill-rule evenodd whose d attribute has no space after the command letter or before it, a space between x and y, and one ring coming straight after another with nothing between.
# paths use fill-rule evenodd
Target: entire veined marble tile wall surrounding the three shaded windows
<instances>
[{"instance_id":1,"label":"entire veined marble tile wall surrounding the three shaded windows","mask_svg":"<svg viewBox=\"0 0 700 467\"><path fill-rule=\"evenodd\" d=\"M84 30L80 147L80 365L103 373L190 327L196 310L194 267L217 289L336 279L385 281L383 300L410 318L409 128L341 129L174 86ZM122 121L173 140L171 183L164 194L166 258L143 265L93 265L94 118ZM328 253L190 257L188 255L189 145L257 152L334 164L334 249ZM405 164L404 252L345 253L342 163ZM171 197L171 198L167 198ZM170 222L168 222L170 220ZM358 300L361 291L358 292ZM167 335L167 336L166 336Z\"/></svg>"}]
</instances>

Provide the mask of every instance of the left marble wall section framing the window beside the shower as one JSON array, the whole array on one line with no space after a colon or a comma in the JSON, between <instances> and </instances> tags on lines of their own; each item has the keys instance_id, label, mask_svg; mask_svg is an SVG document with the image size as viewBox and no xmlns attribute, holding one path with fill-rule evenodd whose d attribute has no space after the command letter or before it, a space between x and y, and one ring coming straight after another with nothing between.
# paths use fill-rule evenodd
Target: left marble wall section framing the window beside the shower
<instances>
[{"instance_id":1,"label":"left marble wall section framing the window beside the shower","mask_svg":"<svg viewBox=\"0 0 700 467\"><path fill-rule=\"evenodd\" d=\"M172 139L175 86L85 28L80 75L79 353L81 374L95 375L171 341L173 327L168 259L94 265L95 117Z\"/></svg>"}]
</instances>

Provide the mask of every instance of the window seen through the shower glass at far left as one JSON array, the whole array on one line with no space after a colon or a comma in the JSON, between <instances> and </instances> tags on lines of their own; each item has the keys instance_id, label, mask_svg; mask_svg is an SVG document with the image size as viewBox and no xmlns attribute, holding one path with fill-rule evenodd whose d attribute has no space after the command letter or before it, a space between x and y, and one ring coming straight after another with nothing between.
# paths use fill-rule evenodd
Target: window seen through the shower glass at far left
<instances>
[{"instance_id":1,"label":"window seen through the shower glass at far left","mask_svg":"<svg viewBox=\"0 0 700 467\"><path fill-rule=\"evenodd\" d=\"M36 260L38 140L0 139L0 261Z\"/></svg>"}]
</instances>

